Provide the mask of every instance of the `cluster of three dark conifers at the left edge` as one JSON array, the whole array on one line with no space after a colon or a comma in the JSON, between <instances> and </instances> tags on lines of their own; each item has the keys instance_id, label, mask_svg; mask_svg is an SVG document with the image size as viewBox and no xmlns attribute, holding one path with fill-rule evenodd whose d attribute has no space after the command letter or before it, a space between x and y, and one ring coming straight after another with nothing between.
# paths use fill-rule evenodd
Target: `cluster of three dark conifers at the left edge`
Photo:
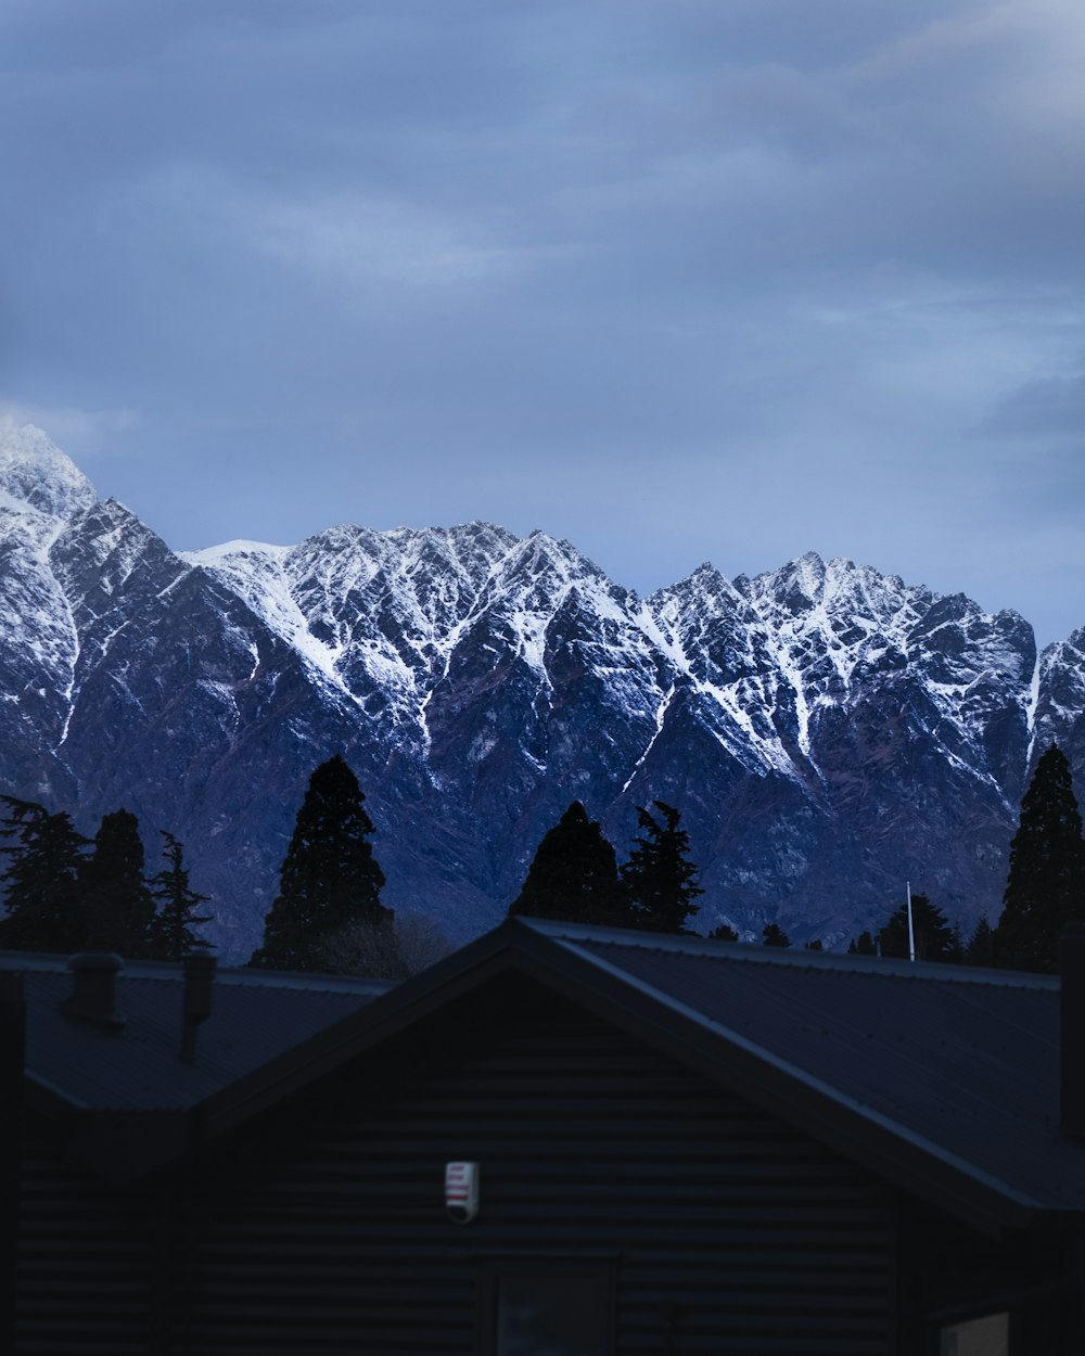
<instances>
[{"instance_id":1,"label":"cluster of three dark conifers at the left edge","mask_svg":"<svg viewBox=\"0 0 1085 1356\"><path fill-rule=\"evenodd\" d=\"M140 823L127 810L102 818L94 841L65 811L0 796L5 917L0 946L14 951L115 951L179 960L210 945L195 930L208 902L189 885L184 850L161 831L165 865L146 875Z\"/></svg>"}]
</instances>

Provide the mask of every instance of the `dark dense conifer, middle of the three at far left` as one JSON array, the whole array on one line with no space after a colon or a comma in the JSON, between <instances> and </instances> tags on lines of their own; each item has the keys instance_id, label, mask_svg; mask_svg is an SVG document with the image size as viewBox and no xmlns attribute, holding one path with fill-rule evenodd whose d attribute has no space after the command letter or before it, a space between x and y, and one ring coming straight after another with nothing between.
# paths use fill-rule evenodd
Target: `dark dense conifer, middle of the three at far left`
<instances>
[{"instance_id":1,"label":"dark dense conifer, middle of the three at far left","mask_svg":"<svg viewBox=\"0 0 1085 1356\"><path fill-rule=\"evenodd\" d=\"M122 956L146 956L155 900L144 872L140 820L127 810L102 816L94 853L81 865L79 884L87 919L87 945Z\"/></svg>"}]
</instances>

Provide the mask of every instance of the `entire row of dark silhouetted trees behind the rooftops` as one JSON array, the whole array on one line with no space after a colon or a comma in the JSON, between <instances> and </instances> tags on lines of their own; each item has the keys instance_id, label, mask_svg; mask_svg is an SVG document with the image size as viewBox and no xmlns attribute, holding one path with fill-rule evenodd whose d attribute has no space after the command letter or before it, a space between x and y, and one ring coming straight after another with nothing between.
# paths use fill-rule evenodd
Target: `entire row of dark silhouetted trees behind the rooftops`
<instances>
[{"instance_id":1,"label":"entire row of dark silhouetted trees behind the rooftops","mask_svg":"<svg viewBox=\"0 0 1085 1356\"><path fill-rule=\"evenodd\" d=\"M279 872L279 890L264 919L263 942L251 965L339 971L406 978L452 951L423 914L396 918L381 903L385 877L373 854L373 823L358 780L339 755L312 774ZM0 797L7 815L0 852L7 917L0 946L72 952L108 948L132 957L178 959L208 942L197 928L206 896L189 885L183 849L163 831L167 865L149 879L136 816L106 815L94 843L71 818L33 801ZM572 801L538 845L524 885L509 906L519 914L591 926L688 932L703 894L689 857L679 811L666 801L637 808L628 860L617 853L579 801ZM981 918L964 938L924 894L911 899L911 934L918 960L1058 970L1059 936L1085 918L1085 843L1070 766L1055 746L1043 754L1021 801L1010 843L1009 877L997 926ZM738 941L723 923L709 937ZM766 946L789 946L778 923L762 932ZM821 941L806 944L821 951ZM877 932L848 946L859 955L907 957L905 903Z\"/></svg>"}]
</instances>

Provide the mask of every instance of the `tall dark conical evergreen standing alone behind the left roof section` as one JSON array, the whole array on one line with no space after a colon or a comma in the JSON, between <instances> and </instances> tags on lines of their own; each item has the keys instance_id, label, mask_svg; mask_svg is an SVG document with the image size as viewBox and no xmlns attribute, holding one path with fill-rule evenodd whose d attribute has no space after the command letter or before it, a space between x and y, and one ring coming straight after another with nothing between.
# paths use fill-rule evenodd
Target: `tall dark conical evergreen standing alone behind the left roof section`
<instances>
[{"instance_id":1,"label":"tall dark conical evergreen standing alone behind the left roof section","mask_svg":"<svg viewBox=\"0 0 1085 1356\"><path fill-rule=\"evenodd\" d=\"M369 843L373 822L363 801L339 754L312 774L251 965L321 970L321 946L331 934L355 919L391 921L392 910L380 902L384 872Z\"/></svg>"}]
</instances>

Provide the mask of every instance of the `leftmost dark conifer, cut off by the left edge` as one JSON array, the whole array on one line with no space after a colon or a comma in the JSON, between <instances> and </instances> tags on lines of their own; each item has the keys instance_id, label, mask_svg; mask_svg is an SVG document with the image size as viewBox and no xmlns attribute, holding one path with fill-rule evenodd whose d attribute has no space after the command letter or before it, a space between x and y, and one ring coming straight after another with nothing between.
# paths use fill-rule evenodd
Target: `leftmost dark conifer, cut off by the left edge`
<instances>
[{"instance_id":1,"label":"leftmost dark conifer, cut off by the left edge","mask_svg":"<svg viewBox=\"0 0 1085 1356\"><path fill-rule=\"evenodd\" d=\"M87 945L80 904L79 868L87 839L62 811L50 814L33 800L0 796L7 815L0 833L8 845L0 883L7 917L0 919L0 946L15 951L76 952Z\"/></svg>"}]
</instances>

